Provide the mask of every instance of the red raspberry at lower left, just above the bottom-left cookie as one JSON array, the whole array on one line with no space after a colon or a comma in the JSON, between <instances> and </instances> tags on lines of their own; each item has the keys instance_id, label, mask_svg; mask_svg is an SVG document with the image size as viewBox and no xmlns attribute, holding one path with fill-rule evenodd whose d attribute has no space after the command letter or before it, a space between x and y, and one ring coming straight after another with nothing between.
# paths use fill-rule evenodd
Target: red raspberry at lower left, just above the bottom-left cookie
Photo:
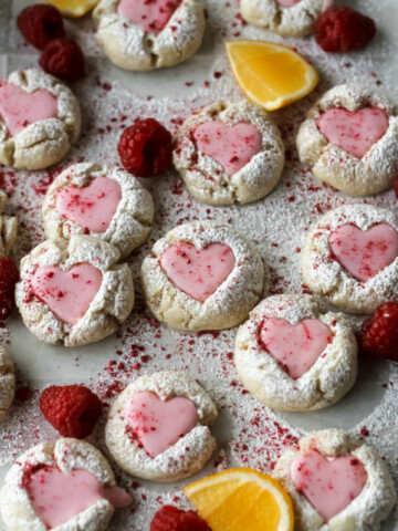
<instances>
[{"instance_id":1,"label":"red raspberry at lower left, just above the bottom-left cookie","mask_svg":"<svg viewBox=\"0 0 398 531\"><path fill-rule=\"evenodd\" d=\"M41 394L40 409L61 435L84 439L93 431L102 404L84 385L52 385Z\"/></svg>"}]
</instances>

